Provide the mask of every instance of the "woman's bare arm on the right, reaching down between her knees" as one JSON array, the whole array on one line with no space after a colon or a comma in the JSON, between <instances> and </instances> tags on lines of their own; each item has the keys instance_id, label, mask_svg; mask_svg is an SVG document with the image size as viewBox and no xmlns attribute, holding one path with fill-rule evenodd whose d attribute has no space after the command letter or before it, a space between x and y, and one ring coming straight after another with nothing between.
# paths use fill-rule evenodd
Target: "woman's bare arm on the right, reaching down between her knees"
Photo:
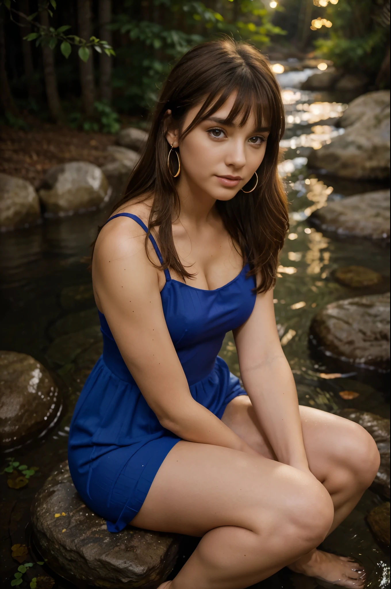
<instances>
[{"instance_id":1,"label":"woman's bare arm on the right, reaching down between her knees","mask_svg":"<svg viewBox=\"0 0 391 589\"><path fill-rule=\"evenodd\" d=\"M234 337L244 388L277 459L307 470L296 385L280 345L272 291L257 294Z\"/></svg>"}]
</instances>

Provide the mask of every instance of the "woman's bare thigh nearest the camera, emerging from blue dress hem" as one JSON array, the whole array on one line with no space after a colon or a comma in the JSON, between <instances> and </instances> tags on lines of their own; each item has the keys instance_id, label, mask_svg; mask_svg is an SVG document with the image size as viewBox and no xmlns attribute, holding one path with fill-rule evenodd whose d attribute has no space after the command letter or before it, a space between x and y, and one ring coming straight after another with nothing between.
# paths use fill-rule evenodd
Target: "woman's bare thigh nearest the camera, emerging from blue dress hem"
<instances>
[{"instance_id":1,"label":"woman's bare thigh nearest the camera, emerging from blue dress hem","mask_svg":"<svg viewBox=\"0 0 391 589\"><path fill-rule=\"evenodd\" d=\"M182 440L164 459L131 524L194 536L226 525L259 532L257 522L295 511L294 489L300 503L309 481L317 485L311 475L261 455Z\"/></svg>"}]
</instances>

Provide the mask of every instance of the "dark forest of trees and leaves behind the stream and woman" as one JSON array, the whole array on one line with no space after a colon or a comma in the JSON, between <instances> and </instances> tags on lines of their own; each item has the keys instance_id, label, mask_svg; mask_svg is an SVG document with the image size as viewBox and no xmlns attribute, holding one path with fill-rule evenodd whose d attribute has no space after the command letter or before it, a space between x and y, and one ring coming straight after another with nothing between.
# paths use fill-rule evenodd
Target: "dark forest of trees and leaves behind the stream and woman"
<instances>
[{"instance_id":1,"label":"dark forest of trees and leaves behind the stream and woman","mask_svg":"<svg viewBox=\"0 0 391 589\"><path fill-rule=\"evenodd\" d=\"M0 123L28 130L33 120L51 121L116 133L130 117L143 126L174 62L222 34L250 41L271 60L320 57L344 72L364 72L373 88L389 87L389 6L386 0L2 0Z\"/></svg>"}]
</instances>

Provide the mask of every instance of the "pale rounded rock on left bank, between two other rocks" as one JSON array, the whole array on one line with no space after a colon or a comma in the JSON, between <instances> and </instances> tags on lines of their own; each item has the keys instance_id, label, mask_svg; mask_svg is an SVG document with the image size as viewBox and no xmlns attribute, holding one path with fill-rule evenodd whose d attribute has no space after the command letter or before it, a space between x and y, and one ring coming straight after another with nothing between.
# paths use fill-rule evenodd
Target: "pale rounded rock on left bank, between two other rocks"
<instances>
[{"instance_id":1,"label":"pale rounded rock on left bank, between two other rocks","mask_svg":"<svg viewBox=\"0 0 391 589\"><path fill-rule=\"evenodd\" d=\"M71 161L51 168L38 194L47 212L59 215L95 209L110 198L101 168L87 161Z\"/></svg>"}]
</instances>

